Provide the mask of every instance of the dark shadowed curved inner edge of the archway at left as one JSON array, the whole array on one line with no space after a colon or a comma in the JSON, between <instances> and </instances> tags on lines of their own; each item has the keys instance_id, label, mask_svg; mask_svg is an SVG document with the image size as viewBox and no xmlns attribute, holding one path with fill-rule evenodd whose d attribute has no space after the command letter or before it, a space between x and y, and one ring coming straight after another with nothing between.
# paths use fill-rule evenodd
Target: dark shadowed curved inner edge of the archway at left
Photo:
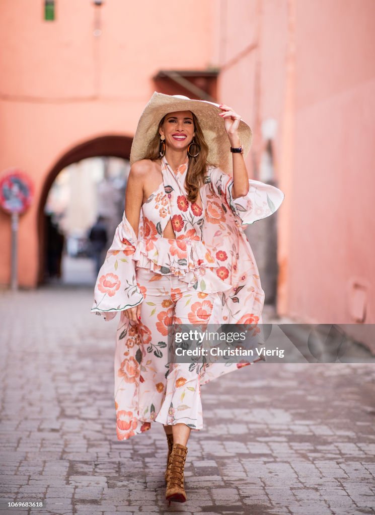
<instances>
[{"instance_id":1,"label":"dark shadowed curved inner edge of the archway at left","mask_svg":"<svg viewBox=\"0 0 375 515\"><path fill-rule=\"evenodd\" d=\"M40 201L38 205L38 242L39 242L39 260L38 260L38 285L44 281L45 268L45 225L44 225L44 207L47 200L48 192L60 173L66 166L77 163L82 159L93 157L117 157L129 159L132 138L129 136L101 136L84 143L81 143L65 153L54 167L49 171L44 182Z\"/></svg>"}]
</instances>

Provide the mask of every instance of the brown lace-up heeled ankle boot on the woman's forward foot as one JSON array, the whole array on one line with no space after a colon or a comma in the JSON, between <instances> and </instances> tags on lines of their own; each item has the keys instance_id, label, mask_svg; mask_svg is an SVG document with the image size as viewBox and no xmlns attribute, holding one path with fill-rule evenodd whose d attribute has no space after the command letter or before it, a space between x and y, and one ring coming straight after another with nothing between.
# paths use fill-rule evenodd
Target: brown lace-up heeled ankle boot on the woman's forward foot
<instances>
[{"instance_id":1,"label":"brown lace-up heeled ankle boot on the woman's forward foot","mask_svg":"<svg viewBox=\"0 0 375 515\"><path fill-rule=\"evenodd\" d=\"M165 499L175 501L176 503L184 503L187 495L184 489L183 469L185 466L187 447L180 443L174 443L171 456L168 461L167 486L165 491Z\"/></svg>"}]
</instances>

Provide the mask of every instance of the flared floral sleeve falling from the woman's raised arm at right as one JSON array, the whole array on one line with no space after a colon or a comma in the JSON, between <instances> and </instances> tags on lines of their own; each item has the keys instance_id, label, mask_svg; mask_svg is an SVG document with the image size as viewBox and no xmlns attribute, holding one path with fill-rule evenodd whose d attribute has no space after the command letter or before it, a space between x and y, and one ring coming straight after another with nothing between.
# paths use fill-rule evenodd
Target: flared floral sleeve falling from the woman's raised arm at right
<instances>
[{"instance_id":1,"label":"flared floral sleeve falling from the woman's raised arm at right","mask_svg":"<svg viewBox=\"0 0 375 515\"><path fill-rule=\"evenodd\" d=\"M249 179L249 191L244 197L233 199L233 178L219 168L209 170L213 192L221 196L233 215L240 218L241 225L253 224L277 211L284 194L276 186Z\"/></svg>"}]
</instances>

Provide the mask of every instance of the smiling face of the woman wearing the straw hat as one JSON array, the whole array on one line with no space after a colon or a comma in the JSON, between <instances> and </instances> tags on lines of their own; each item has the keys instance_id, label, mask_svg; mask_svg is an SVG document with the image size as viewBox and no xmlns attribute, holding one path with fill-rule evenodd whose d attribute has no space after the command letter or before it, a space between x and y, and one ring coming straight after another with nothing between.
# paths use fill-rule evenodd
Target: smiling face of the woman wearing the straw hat
<instances>
[{"instance_id":1,"label":"smiling face of the woman wearing the straw hat","mask_svg":"<svg viewBox=\"0 0 375 515\"><path fill-rule=\"evenodd\" d=\"M176 150L183 150L194 138L194 121L191 111L175 111L165 115L164 122L159 129L161 136L165 137L165 146Z\"/></svg>"}]
</instances>

